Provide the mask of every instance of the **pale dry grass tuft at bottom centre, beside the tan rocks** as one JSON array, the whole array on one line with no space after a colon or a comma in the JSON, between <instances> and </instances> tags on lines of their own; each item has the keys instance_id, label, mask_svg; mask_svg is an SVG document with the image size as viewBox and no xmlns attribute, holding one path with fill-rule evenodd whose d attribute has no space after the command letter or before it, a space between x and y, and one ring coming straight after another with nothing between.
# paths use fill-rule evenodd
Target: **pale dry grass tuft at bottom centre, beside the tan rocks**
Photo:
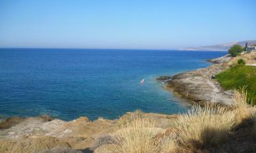
<instances>
[{"instance_id":1,"label":"pale dry grass tuft at bottom centre, beside the tan rocks","mask_svg":"<svg viewBox=\"0 0 256 153\"><path fill-rule=\"evenodd\" d=\"M131 122L122 125L122 128L113 134L115 147L111 152L116 153L156 153L159 146L153 137L163 132L163 129L154 127L152 120L137 116Z\"/></svg>"}]
</instances>

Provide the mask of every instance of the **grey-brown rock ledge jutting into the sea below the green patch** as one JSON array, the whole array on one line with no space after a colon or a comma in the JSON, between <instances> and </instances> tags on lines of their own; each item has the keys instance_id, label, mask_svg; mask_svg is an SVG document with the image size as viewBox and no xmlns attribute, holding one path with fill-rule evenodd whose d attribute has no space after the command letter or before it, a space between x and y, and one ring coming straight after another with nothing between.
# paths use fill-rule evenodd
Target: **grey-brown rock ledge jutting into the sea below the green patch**
<instances>
[{"instance_id":1,"label":"grey-brown rock ledge jutting into the sea below the green patch","mask_svg":"<svg viewBox=\"0 0 256 153\"><path fill-rule=\"evenodd\" d=\"M194 103L220 103L232 105L233 90L224 90L214 79L215 75L227 69L231 56L225 55L208 60L214 63L203 69L187 71L173 76L160 76L156 80L164 86Z\"/></svg>"}]
</instances>

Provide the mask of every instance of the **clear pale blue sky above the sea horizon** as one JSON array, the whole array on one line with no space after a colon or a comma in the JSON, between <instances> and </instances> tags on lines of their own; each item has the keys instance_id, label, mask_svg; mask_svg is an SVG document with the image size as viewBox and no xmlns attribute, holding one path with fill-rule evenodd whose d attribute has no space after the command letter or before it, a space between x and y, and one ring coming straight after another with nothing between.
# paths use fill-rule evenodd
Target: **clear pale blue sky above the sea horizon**
<instances>
[{"instance_id":1,"label":"clear pale blue sky above the sea horizon","mask_svg":"<svg viewBox=\"0 0 256 153\"><path fill-rule=\"evenodd\" d=\"M255 0L0 0L0 48L175 49L250 39Z\"/></svg>"}]
</instances>

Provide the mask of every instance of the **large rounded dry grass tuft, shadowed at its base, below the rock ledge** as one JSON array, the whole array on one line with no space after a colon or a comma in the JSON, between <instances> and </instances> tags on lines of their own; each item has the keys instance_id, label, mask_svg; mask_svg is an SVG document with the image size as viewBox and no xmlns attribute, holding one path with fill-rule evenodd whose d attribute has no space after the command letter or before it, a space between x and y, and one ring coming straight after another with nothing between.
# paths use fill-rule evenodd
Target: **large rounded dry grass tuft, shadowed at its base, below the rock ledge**
<instances>
[{"instance_id":1,"label":"large rounded dry grass tuft, shadowed at its base, below the rock ledge","mask_svg":"<svg viewBox=\"0 0 256 153\"><path fill-rule=\"evenodd\" d=\"M184 148L216 146L236 125L235 114L221 105L194 105L175 124L177 139Z\"/></svg>"}]
</instances>

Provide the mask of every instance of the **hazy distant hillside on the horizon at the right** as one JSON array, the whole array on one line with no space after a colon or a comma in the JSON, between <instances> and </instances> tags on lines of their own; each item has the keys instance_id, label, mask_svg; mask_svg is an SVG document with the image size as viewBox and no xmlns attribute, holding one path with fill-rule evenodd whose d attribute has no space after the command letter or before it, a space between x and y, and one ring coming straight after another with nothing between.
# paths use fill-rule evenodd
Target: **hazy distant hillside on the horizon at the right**
<instances>
[{"instance_id":1,"label":"hazy distant hillside on the horizon at the right","mask_svg":"<svg viewBox=\"0 0 256 153\"><path fill-rule=\"evenodd\" d=\"M248 41L233 41L227 44L218 44L212 46L199 46L199 47L191 47L191 48L183 48L182 50L208 50L208 51L227 51L234 44L239 44L241 46L245 46L246 42L248 45L256 44L256 40L248 40Z\"/></svg>"}]
</instances>

